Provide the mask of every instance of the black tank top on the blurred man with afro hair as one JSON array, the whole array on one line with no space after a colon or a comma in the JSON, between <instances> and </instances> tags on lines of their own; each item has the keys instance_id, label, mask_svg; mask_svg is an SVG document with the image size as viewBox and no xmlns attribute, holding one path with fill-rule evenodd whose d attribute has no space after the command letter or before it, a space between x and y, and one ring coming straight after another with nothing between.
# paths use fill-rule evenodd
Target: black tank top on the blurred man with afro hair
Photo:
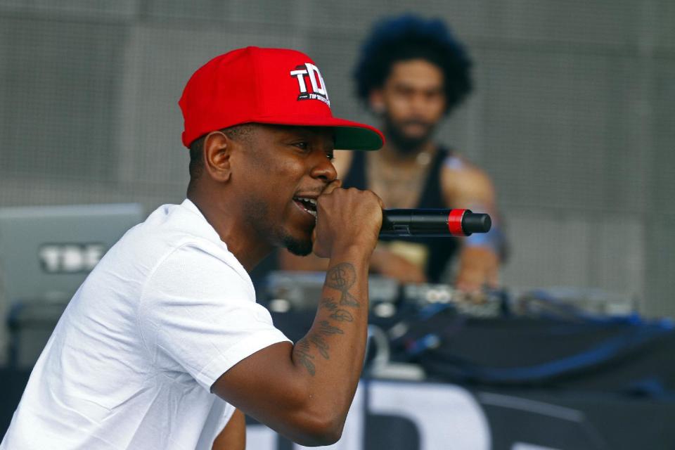
<instances>
[{"instance_id":1,"label":"black tank top on the blurred man with afro hair","mask_svg":"<svg viewBox=\"0 0 675 450\"><path fill-rule=\"evenodd\" d=\"M342 180L342 187L345 188L368 188L366 174L368 173L366 164L366 152L352 152L352 165L349 166L349 172ZM428 178L422 188L422 195L418 200L417 208L444 208L446 207L441 190L441 170L445 158L449 156L449 151L439 147L436 155L431 161ZM380 238L382 241L402 240L424 245L428 251L428 260L426 266L426 275L431 283L439 283L446 264L449 259L457 252L457 238Z\"/></svg>"}]
</instances>

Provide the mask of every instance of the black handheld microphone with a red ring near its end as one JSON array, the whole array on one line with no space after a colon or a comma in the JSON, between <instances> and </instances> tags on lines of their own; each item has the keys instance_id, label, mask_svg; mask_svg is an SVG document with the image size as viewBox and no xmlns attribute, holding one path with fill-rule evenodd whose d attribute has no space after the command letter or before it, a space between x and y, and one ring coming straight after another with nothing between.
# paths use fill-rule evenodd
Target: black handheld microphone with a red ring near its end
<instances>
[{"instance_id":1,"label":"black handheld microphone with a red ring near its end","mask_svg":"<svg viewBox=\"0 0 675 450\"><path fill-rule=\"evenodd\" d=\"M471 210L383 210L380 238L470 236L487 233L491 226L489 214Z\"/></svg>"}]
</instances>

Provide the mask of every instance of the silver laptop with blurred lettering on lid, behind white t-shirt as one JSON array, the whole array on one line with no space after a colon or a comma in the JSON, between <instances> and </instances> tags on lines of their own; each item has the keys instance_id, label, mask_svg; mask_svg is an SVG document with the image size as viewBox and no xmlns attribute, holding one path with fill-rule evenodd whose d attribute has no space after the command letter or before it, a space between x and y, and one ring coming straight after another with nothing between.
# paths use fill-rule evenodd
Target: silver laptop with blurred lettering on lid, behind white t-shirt
<instances>
[{"instance_id":1,"label":"silver laptop with blurred lettering on lid, behind white t-shirt","mask_svg":"<svg viewBox=\"0 0 675 450\"><path fill-rule=\"evenodd\" d=\"M144 218L138 204L0 208L0 364L8 358L8 323L12 350L26 366L87 274Z\"/></svg>"}]
</instances>

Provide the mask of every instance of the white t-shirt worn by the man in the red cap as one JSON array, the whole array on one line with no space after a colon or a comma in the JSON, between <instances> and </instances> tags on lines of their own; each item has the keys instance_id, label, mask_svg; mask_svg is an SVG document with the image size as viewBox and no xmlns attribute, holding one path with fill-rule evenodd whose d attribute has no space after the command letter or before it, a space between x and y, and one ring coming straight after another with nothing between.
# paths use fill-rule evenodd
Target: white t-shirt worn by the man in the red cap
<instances>
[{"instance_id":1,"label":"white t-shirt worn by the man in the red cap","mask_svg":"<svg viewBox=\"0 0 675 450\"><path fill-rule=\"evenodd\" d=\"M164 205L77 290L0 450L211 449L233 413L211 385L286 340L198 208Z\"/></svg>"}]
</instances>

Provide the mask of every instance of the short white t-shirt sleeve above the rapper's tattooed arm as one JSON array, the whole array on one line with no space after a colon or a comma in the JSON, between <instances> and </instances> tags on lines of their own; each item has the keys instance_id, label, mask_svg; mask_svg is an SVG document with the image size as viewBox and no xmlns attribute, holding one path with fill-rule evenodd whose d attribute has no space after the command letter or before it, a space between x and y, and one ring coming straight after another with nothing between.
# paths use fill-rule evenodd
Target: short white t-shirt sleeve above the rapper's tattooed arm
<instances>
[{"instance_id":1,"label":"short white t-shirt sleeve above the rapper's tattooed arm","mask_svg":"<svg viewBox=\"0 0 675 450\"><path fill-rule=\"evenodd\" d=\"M207 390L242 359L288 341L255 302L250 278L195 243L174 250L150 274L138 314L153 361L168 357Z\"/></svg>"}]
</instances>

